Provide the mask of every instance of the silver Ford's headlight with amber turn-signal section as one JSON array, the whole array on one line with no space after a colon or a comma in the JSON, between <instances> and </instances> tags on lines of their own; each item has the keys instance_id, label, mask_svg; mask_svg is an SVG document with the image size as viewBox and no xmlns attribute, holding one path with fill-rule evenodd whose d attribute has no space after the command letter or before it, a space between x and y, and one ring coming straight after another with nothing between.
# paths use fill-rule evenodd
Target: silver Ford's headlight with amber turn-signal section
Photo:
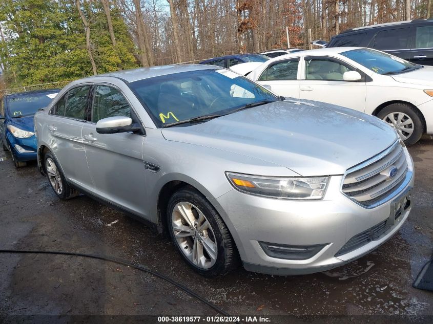
<instances>
[{"instance_id":1,"label":"silver Ford's headlight with amber turn-signal section","mask_svg":"<svg viewBox=\"0 0 433 324\"><path fill-rule=\"evenodd\" d=\"M282 199L321 199L329 177L263 177L225 172L235 189L250 195Z\"/></svg>"}]
</instances>

